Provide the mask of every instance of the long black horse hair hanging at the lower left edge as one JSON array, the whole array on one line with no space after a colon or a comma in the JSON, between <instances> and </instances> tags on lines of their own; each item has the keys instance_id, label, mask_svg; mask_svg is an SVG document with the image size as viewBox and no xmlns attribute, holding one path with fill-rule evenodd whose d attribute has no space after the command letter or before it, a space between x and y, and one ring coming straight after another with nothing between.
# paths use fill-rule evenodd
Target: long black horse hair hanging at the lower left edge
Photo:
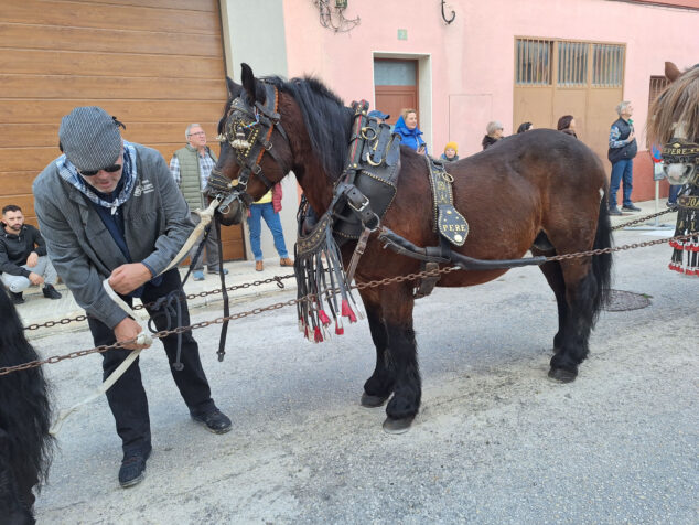
<instances>
[{"instance_id":1,"label":"long black horse hair hanging at the lower left edge","mask_svg":"<svg viewBox=\"0 0 699 525\"><path fill-rule=\"evenodd\" d=\"M10 298L0 290L0 367L14 366L39 356L23 333ZM0 430L4 430L4 463L25 482L35 474L44 482L53 456L49 436L51 406L41 368L13 372L0 377ZM8 447L9 444L9 447Z\"/></svg>"}]
</instances>

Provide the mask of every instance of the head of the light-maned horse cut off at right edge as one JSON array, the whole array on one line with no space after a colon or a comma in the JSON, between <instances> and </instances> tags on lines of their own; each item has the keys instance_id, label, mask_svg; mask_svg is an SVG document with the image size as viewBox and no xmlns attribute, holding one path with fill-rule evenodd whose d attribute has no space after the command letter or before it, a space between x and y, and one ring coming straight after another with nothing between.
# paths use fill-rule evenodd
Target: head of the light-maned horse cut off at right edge
<instances>
[{"instance_id":1,"label":"head of the light-maned horse cut off at right edge","mask_svg":"<svg viewBox=\"0 0 699 525\"><path fill-rule=\"evenodd\" d=\"M665 63L670 84L650 108L648 139L663 147L663 171L670 184L697 184L699 165L699 64L681 73Z\"/></svg>"}]
</instances>

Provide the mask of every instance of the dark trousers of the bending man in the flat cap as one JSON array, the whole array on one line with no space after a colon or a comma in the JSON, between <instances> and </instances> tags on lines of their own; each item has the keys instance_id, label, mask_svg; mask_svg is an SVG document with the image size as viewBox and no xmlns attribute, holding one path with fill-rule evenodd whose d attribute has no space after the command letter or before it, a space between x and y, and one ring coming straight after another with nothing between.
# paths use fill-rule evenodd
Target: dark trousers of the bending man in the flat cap
<instances>
[{"instance_id":1,"label":"dark trousers of the bending man in the flat cap","mask_svg":"<svg viewBox=\"0 0 699 525\"><path fill-rule=\"evenodd\" d=\"M154 287L147 285L143 289L143 303L153 302L157 299L166 296L173 290L178 290L181 286L180 274L176 269L172 269L163 274L160 286ZM122 297L122 299L131 304L131 298ZM183 326L190 324L190 312L186 301L181 301ZM151 317L162 312L162 310L148 309ZM158 330L168 329L168 318L170 318L170 329L175 328L176 320L174 315L155 315L154 324ZM101 321L88 318L89 330L93 333L95 346L110 345L116 342L114 330ZM171 334L161 340L168 354L170 362L170 372L174 378L180 394L184 403L190 408L190 413L194 415L206 414L216 406L211 397L211 389L206 375L202 368L200 360L198 346L192 332L182 334L182 356L181 362L184 368L180 372L172 367L175 362L178 352L178 335ZM148 352L149 350L146 350ZM106 379L129 355L130 350L108 350L101 354L104 379ZM139 368L139 360L129 366L121 377L107 390L107 400L109 408L117 424L117 433L121 438L125 458L132 454L146 454L151 450L150 436L150 418L148 417L148 399L146 390L141 383L141 371Z\"/></svg>"}]
</instances>

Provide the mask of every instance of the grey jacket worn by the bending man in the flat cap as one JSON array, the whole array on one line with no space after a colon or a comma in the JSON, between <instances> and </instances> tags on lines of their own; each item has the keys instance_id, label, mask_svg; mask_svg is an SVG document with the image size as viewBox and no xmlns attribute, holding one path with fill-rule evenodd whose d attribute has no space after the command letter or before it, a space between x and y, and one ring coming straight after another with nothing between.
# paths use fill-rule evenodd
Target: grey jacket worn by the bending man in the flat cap
<instances>
[{"instance_id":1,"label":"grey jacket worn by the bending man in the flat cap","mask_svg":"<svg viewBox=\"0 0 699 525\"><path fill-rule=\"evenodd\" d=\"M184 245L194 224L190 208L162 156L144 146L137 152L138 180L121 206L126 243L133 262L160 274ZM93 204L58 174L55 161L36 178L34 208L49 257L89 315L109 328L127 315L101 281L126 259Z\"/></svg>"}]
</instances>

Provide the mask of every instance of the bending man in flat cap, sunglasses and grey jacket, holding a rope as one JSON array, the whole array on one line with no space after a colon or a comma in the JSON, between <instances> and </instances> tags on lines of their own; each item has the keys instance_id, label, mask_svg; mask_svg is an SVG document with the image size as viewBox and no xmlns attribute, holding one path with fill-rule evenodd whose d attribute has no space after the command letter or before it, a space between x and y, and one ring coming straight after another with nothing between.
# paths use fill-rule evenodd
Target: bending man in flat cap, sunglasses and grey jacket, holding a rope
<instances>
[{"instance_id":1,"label":"bending man in flat cap, sunglasses and grey jacket, holding a rope","mask_svg":"<svg viewBox=\"0 0 699 525\"><path fill-rule=\"evenodd\" d=\"M88 314L95 345L133 341L141 328L103 289L111 288L129 304L132 298L152 303L181 287L176 268L161 275L193 229L190 213L162 156L121 139L116 118L98 107L77 107L63 117L61 150L34 181L35 211L49 256L76 301ZM183 325L190 324L182 301ZM147 307L158 330L174 328L164 307ZM173 310L173 309L169 309ZM230 430L230 420L211 397L196 341L182 334L182 369L172 376L191 417L208 430ZM176 362L178 336L162 340ZM103 355L104 377L129 354L109 350ZM107 390L117 432L122 441L121 486L139 483L151 452L150 420L138 360Z\"/></svg>"}]
</instances>

